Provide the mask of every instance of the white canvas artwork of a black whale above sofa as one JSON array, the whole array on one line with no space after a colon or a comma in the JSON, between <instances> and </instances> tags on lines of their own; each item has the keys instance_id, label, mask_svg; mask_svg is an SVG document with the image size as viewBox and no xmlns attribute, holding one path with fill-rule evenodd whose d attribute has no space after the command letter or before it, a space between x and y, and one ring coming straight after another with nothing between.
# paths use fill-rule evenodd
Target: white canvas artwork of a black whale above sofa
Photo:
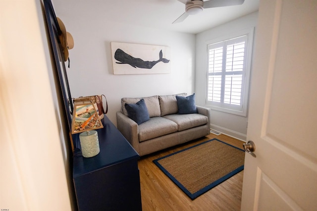
<instances>
[{"instance_id":1,"label":"white canvas artwork of a black whale above sofa","mask_svg":"<svg viewBox=\"0 0 317 211\"><path fill-rule=\"evenodd\" d=\"M114 75L167 74L171 71L170 47L111 42Z\"/></svg>"}]
</instances>

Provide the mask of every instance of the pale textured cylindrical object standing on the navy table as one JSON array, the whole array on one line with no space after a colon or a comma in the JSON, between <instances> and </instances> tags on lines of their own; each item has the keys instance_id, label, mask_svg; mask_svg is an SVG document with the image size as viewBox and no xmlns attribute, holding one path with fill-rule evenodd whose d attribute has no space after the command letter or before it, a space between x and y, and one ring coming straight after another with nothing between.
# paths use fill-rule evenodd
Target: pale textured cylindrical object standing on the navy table
<instances>
[{"instance_id":1,"label":"pale textured cylindrical object standing on the navy table","mask_svg":"<svg viewBox=\"0 0 317 211\"><path fill-rule=\"evenodd\" d=\"M100 153L98 133L90 130L79 134L81 153L85 158L91 158Z\"/></svg>"}]
</instances>

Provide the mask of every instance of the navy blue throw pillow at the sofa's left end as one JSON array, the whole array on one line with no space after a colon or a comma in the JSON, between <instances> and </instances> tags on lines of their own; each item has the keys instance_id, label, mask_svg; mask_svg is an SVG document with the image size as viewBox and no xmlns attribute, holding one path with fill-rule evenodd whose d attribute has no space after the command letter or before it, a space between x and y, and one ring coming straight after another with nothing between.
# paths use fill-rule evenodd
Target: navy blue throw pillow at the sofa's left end
<instances>
[{"instance_id":1,"label":"navy blue throw pillow at the sofa's left end","mask_svg":"<svg viewBox=\"0 0 317 211\"><path fill-rule=\"evenodd\" d=\"M124 104L128 112L128 117L136 122L138 125L150 119L148 108L145 105L144 99L141 99L136 104Z\"/></svg>"}]
</instances>

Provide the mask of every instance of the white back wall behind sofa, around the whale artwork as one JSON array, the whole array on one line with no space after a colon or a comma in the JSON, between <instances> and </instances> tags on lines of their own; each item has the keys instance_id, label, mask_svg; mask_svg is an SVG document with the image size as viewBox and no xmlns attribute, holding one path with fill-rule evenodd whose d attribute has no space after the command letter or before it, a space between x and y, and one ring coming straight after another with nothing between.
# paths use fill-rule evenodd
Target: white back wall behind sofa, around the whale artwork
<instances>
[{"instance_id":1,"label":"white back wall behind sofa, around the whale artwork","mask_svg":"<svg viewBox=\"0 0 317 211\"><path fill-rule=\"evenodd\" d=\"M105 94L113 124L122 97L194 92L195 35L118 23L115 15L120 14L113 14L106 1L53 3L74 38L67 70L72 97ZM113 75L110 42L170 46L171 74Z\"/></svg>"}]
</instances>

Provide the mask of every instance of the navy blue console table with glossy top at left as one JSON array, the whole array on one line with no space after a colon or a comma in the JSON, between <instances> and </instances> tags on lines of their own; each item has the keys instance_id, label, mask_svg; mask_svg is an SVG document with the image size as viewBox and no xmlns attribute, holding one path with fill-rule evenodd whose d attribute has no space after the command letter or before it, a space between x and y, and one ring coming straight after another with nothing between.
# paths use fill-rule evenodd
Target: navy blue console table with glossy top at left
<instances>
[{"instance_id":1,"label":"navy blue console table with glossy top at left","mask_svg":"<svg viewBox=\"0 0 317 211\"><path fill-rule=\"evenodd\" d=\"M100 153L75 155L73 181L79 211L141 211L140 156L119 130L104 117L98 129ZM79 135L73 135L79 143Z\"/></svg>"}]
</instances>

